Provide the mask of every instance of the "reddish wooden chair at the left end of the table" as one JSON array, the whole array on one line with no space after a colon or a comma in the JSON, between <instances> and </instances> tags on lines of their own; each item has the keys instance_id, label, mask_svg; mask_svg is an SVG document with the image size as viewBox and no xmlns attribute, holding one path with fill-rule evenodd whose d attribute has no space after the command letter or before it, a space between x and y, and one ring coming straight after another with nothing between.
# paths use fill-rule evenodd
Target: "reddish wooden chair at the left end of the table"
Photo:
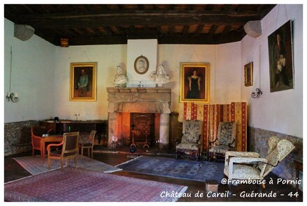
<instances>
[{"instance_id":1,"label":"reddish wooden chair at the left end of the table","mask_svg":"<svg viewBox=\"0 0 307 206\"><path fill-rule=\"evenodd\" d=\"M32 126L31 127L32 156L34 156L34 150L40 150L40 155L42 155L43 134L49 134L51 131L52 129L47 130L47 127L45 126Z\"/></svg>"}]
</instances>

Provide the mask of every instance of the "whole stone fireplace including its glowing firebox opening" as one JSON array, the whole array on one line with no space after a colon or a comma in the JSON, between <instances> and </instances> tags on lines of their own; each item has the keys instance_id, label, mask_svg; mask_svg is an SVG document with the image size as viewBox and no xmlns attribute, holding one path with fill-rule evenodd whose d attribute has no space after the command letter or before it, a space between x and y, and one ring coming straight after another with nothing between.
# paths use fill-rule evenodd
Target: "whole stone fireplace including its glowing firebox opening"
<instances>
[{"instance_id":1,"label":"whole stone fireplace including its glowing firebox opening","mask_svg":"<svg viewBox=\"0 0 307 206\"><path fill-rule=\"evenodd\" d=\"M132 143L134 129L140 128L140 125L134 125L135 114L140 117L140 124L148 127L144 132L149 143L158 142L160 148L169 146L170 88L107 88L107 93L108 147L111 147L112 141L123 145ZM151 120L147 120L150 116Z\"/></svg>"}]
</instances>

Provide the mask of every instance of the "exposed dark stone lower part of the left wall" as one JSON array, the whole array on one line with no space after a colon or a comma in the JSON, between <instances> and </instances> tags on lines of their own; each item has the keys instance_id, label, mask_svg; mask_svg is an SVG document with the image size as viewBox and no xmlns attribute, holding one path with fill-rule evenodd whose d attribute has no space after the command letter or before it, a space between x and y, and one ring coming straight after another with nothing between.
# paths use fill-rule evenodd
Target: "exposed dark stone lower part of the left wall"
<instances>
[{"instance_id":1,"label":"exposed dark stone lower part of the left wall","mask_svg":"<svg viewBox=\"0 0 307 206\"><path fill-rule=\"evenodd\" d=\"M4 124L4 156L31 150L31 127L38 124L36 120Z\"/></svg>"}]
</instances>

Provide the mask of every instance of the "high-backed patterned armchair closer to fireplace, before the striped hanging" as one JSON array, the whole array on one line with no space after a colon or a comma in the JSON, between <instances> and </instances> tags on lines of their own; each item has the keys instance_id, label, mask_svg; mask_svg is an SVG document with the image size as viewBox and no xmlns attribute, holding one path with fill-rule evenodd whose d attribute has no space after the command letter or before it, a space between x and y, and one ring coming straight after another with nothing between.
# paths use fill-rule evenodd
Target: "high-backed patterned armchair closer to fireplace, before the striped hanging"
<instances>
[{"instance_id":1,"label":"high-backed patterned armchair closer to fireplace, before the striped hanging","mask_svg":"<svg viewBox=\"0 0 307 206\"><path fill-rule=\"evenodd\" d=\"M177 158L188 157L196 159L200 157L200 146L202 143L202 121L184 120L181 143L177 142Z\"/></svg>"}]
</instances>

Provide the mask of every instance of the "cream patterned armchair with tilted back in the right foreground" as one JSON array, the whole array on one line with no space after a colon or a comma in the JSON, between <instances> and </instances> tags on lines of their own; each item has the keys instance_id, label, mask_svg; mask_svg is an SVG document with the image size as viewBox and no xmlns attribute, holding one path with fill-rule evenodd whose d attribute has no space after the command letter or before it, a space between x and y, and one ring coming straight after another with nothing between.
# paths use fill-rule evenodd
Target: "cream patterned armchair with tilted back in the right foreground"
<instances>
[{"instance_id":1,"label":"cream patterned armchair with tilted back in the right foreground","mask_svg":"<svg viewBox=\"0 0 307 206\"><path fill-rule=\"evenodd\" d=\"M232 180L262 180L295 148L290 141L276 136L269 138L268 146L265 158L257 152L227 151L224 174Z\"/></svg>"}]
</instances>

